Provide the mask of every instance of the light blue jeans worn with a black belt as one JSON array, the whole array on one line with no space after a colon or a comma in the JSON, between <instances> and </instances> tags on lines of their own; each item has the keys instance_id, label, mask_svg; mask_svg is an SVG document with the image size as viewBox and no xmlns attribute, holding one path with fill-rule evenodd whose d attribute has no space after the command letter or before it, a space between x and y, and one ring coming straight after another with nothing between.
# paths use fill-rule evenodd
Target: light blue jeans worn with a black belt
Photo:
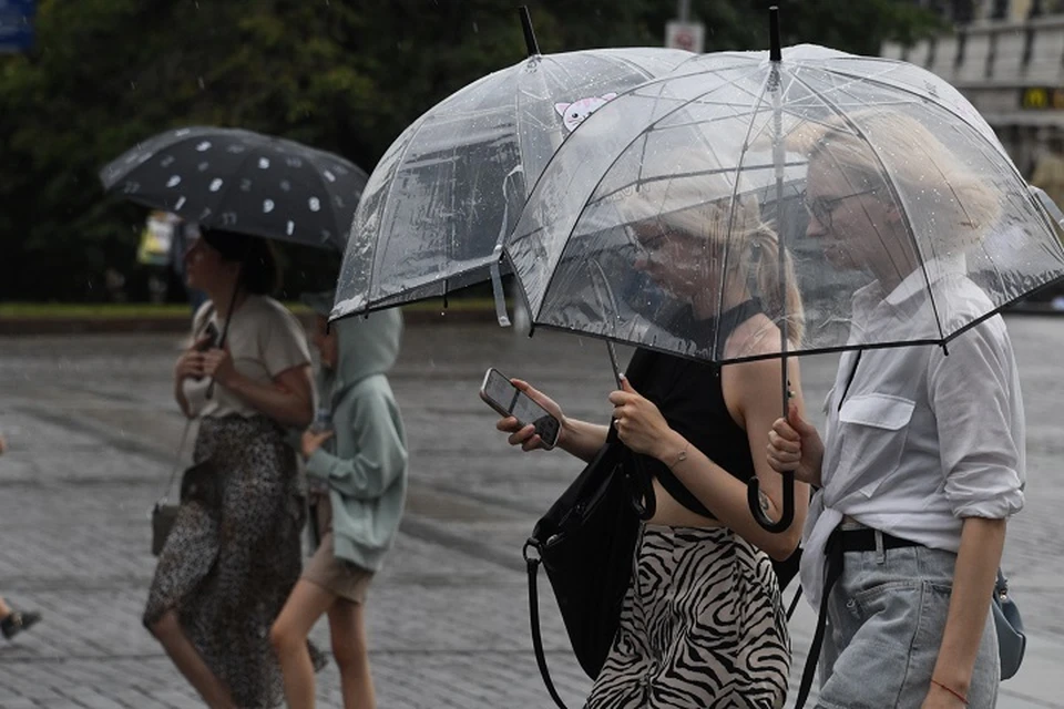
<instances>
[{"instance_id":1,"label":"light blue jeans worn with a black belt","mask_svg":"<svg viewBox=\"0 0 1064 709\"><path fill-rule=\"evenodd\" d=\"M955 563L956 554L925 546L846 553L828 600L817 707L919 709L938 660ZM1000 674L988 609L968 690L971 709L996 705Z\"/></svg>"}]
</instances>

